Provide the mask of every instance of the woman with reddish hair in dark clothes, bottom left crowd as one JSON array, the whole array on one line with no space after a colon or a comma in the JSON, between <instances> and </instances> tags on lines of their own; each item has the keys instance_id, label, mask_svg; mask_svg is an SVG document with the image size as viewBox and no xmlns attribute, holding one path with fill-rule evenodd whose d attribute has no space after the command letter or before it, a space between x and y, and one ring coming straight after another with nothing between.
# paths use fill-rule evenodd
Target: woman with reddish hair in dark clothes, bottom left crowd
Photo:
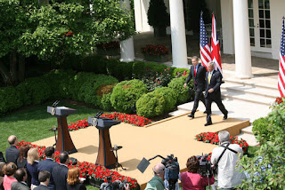
<instances>
[{"instance_id":1,"label":"woman with reddish hair in dark clothes, bottom left crowd","mask_svg":"<svg viewBox=\"0 0 285 190\"><path fill-rule=\"evenodd\" d=\"M79 169L73 167L69 169L69 174L67 178L67 189L68 190L85 190L86 187L83 184L83 181L79 179Z\"/></svg>"}]
</instances>

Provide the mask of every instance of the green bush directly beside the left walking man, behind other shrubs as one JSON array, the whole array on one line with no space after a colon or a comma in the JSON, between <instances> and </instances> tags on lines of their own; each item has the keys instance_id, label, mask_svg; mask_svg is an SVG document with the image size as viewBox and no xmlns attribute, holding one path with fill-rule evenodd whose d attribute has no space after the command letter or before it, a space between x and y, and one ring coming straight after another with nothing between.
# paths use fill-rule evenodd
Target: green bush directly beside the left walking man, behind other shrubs
<instances>
[{"instance_id":1,"label":"green bush directly beside the left walking man, behind other shrubs","mask_svg":"<svg viewBox=\"0 0 285 190\"><path fill-rule=\"evenodd\" d=\"M193 88L192 81L188 83L187 88L183 87L183 83L185 83L187 76L188 75L183 75L179 78L174 78L171 80L170 83L168 83L168 87L175 90L178 95L177 104L183 104L191 98L190 93L188 91L189 88ZM193 97L194 95L192 95L192 98Z\"/></svg>"}]
</instances>

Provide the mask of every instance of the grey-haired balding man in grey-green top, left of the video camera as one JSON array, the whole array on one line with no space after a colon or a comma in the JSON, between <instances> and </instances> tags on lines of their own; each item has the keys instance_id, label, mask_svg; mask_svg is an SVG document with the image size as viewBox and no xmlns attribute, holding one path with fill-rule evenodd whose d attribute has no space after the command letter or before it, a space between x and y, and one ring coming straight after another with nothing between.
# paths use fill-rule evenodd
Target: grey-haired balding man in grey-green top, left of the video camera
<instances>
[{"instance_id":1,"label":"grey-haired balding man in grey-green top, left of the video camera","mask_svg":"<svg viewBox=\"0 0 285 190\"><path fill-rule=\"evenodd\" d=\"M154 177L147 183L145 189L164 190L165 165L158 163L153 168Z\"/></svg>"}]
</instances>

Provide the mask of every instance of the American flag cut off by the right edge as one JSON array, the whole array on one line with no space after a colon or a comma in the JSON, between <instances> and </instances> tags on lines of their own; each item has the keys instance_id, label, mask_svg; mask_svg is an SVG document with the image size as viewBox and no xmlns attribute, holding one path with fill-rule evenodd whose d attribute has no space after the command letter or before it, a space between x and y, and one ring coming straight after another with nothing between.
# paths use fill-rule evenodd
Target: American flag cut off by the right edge
<instances>
[{"instance_id":1,"label":"American flag cut off by the right edge","mask_svg":"<svg viewBox=\"0 0 285 190\"><path fill-rule=\"evenodd\" d=\"M279 58L279 75L278 75L278 89L281 97L285 95L285 34L284 34L284 17L282 20L281 46Z\"/></svg>"}]
</instances>

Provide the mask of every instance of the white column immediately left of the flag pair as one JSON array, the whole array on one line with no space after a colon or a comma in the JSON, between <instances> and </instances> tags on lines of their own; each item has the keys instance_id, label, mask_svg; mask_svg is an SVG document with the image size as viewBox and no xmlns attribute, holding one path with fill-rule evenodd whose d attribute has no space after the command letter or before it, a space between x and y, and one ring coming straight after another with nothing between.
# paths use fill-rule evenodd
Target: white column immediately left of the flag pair
<instances>
[{"instance_id":1,"label":"white column immediately left of the flag pair","mask_svg":"<svg viewBox=\"0 0 285 190\"><path fill-rule=\"evenodd\" d=\"M169 0L173 67L188 67L183 0Z\"/></svg>"}]
</instances>

